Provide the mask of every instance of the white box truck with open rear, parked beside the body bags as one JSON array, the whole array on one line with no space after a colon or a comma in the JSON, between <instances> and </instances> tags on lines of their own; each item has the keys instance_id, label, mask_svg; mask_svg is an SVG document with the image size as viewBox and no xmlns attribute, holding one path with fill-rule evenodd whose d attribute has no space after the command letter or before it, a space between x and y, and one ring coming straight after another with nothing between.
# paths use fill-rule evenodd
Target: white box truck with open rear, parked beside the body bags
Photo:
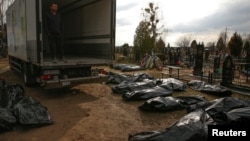
<instances>
[{"instance_id":1,"label":"white box truck with open rear, parked beside the body bags","mask_svg":"<svg viewBox=\"0 0 250 141\"><path fill-rule=\"evenodd\" d=\"M112 65L116 0L57 0L64 24L66 61L53 62L43 21L50 0L15 0L6 12L8 57L26 86L73 86L100 78Z\"/></svg>"}]
</instances>

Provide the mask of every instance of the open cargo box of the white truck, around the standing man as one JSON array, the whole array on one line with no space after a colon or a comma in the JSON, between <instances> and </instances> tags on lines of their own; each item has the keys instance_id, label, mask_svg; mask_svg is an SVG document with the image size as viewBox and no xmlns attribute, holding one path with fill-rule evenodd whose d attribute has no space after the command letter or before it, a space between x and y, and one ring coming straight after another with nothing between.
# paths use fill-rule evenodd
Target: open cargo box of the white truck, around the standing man
<instances>
[{"instance_id":1,"label":"open cargo box of the white truck, around the standing man","mask_svg":"<svg viewBox=\"0 0 250 141\"><path fill-rule=\"evenodd\" d=\"M58 0L68 62L110 64L115 40L114 0ZM8 52L22 60L51 62L43 21L49 0L16 0L7 11ZM46 62L43 64L43 62ZM67 65L67 64L65 64Z\"/></svg>"}]
</instances>

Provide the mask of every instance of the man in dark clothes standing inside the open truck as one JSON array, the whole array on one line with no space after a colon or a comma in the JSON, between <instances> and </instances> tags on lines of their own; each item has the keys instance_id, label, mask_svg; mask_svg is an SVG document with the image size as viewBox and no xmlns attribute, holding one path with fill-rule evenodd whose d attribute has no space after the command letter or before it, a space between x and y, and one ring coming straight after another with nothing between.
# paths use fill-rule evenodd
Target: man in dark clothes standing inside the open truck
<instances>
[{"instance_id":1,"label":"man in dark clothes standing inside the open truck","mask_svg":"<svg viewBox=\"0 0 250 141\"><path fill-rule=\"evenodd\" d=\"M48 35L49 47L53 61L64 60L63 49L63 24L61 14L58 13L58 5L50 3L50 10L46 15L45 31Z\"/></svg>"}]
</instances>

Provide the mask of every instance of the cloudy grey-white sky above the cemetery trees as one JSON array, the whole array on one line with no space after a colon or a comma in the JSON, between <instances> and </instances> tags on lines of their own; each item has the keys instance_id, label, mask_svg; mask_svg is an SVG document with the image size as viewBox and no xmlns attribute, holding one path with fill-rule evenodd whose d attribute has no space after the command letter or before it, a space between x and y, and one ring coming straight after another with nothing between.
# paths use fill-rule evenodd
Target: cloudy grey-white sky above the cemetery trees
<instances>
[{"instance_id":1,"label":"cloudy grey-white sky above the cemetery trees","mask_svg":"<svg viewBox=\"0 0 250 141\"><path fill-rule=\"evenodd\" d=\"M136 27L142 20L142 9L154 2L167 29L165 43L175 46L178 38L190 36L197 42L217 42L226 30L244 37L250 34L249 0L117 0L116 46L133 45ZM227 40L229 40L229 38Z\"/></svg>"}]
</instances>

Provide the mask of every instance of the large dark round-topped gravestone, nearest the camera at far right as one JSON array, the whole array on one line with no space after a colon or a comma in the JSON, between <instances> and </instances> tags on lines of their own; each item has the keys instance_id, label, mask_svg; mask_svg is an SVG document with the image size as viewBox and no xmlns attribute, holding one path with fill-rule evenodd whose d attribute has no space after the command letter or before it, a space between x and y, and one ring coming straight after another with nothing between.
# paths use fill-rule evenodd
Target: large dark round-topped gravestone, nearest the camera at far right
<instances>
[{"instance_id":1,"label":"large dark round-topped gravestone, nearest the camera at far right","mask_svg":"<svg viewBox=\"0 0 250 141\"><path fill-rule=\"evenodd\" d=\"M222 67L221 85L231 85L233 81L233 59L230 55L225 57Z\"/></svg>"}]
</instances>

